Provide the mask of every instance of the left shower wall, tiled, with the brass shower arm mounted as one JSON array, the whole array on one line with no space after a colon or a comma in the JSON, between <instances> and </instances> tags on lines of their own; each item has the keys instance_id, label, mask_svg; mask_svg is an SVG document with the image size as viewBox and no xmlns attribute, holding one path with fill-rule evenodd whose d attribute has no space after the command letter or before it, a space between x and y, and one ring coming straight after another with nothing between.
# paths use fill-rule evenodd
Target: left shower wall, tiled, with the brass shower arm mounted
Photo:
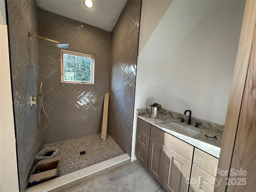
<instances>
[{"instance_id":1,"label":"left shower wall, tiled, with the brass shower arm mounted","mask_svg":"<svg viewBox=\"0 0 256 192\"><path fill-rule=\"evenodd\" d=\"M37 108L30 107L30 95L38 90L38 39L28 37L37 30L36 1L7 1L12 91L18 151L20 191L27 186L35 155L42 146L37 128ZM2 146L1 146L2 147Z\"/></svg>"}]
</instances>

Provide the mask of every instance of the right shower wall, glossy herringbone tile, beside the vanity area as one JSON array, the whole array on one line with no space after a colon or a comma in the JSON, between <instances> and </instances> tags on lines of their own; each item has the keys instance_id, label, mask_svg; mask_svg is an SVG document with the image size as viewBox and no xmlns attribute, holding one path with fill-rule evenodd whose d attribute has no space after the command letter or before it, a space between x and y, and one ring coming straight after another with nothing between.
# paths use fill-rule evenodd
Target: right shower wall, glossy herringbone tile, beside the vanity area
<instances>
[{"instance_id":1,"label":"right shower wall, glossy herringbone tile, beside the vanity area","mask_svg":"<svg viewBox=\"0 0 256 192\"><path fill-rule=\"evenodd\" d=\"M134 94L140 22L139 0L128 0L111 33L108 132L131 155Z\"/></svg>"}]
</instances>

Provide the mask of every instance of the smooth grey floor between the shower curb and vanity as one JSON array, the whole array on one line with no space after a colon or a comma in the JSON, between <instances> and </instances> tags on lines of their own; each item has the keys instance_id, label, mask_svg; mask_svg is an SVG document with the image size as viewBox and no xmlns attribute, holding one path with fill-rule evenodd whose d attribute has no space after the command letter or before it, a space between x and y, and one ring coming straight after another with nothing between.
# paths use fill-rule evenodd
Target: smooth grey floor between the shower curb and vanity
<instances>
[{"instance_id":1,"label":"smooth grey floor between the shower curb and vanity","mask_svg":"<svg viewBox=\"0 0 256 192\"><path fill-rule=\"evenodd\" d=\"M62 192L166 192L150 173L134 161Z\"/></svg>"}]
</instances>

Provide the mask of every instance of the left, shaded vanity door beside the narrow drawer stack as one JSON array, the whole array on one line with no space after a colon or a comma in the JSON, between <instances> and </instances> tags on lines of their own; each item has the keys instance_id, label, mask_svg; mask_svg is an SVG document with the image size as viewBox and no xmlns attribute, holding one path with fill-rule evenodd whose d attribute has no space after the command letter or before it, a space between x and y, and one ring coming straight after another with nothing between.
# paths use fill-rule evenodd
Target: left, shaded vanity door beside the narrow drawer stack
<instances>
[{"instance_id":1,"label":"left, shaded vanity door beside the narrow drawer stack","mask_svg":"<svg viewBox=\"0 0 256 192\"><path fill-rule=\"evenodd\" d=\"M164 160L166 146L158 140L150 137L149 152L148 152L148 171L163 184L164 176Z\"/></svg>"}]
</instances>

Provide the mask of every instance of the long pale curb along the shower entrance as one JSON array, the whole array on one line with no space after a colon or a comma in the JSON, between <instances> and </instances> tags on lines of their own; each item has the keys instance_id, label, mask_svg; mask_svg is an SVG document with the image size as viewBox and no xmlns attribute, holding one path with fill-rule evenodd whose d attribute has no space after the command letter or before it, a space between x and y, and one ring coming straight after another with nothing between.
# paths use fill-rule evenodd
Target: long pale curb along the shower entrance
<instances>
[{"instance_id":1,"label":"long pale curb along the shower entrance","mask_svg":"<svg viewBox=\"0 0 256 192\"><path fill-rule=\"evenodd\" d=\"M60 176L42 184L27 188L25 192L60 192L104 174L110 170L118 168L124 164L127 164L128 162L130 162L130 156L128 156L128 154L123 154L64 176Z\"/></svg>"}]
</instances>

